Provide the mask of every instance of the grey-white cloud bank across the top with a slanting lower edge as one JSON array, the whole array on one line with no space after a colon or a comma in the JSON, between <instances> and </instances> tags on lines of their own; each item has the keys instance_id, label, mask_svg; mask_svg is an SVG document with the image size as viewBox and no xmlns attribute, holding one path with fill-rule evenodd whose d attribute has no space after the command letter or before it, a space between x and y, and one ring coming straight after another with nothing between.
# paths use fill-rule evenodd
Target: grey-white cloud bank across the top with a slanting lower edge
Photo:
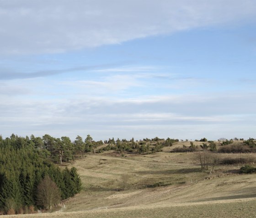
<instances>
[{"instance_id":1,"label":"grey-white cloud bank across the top with a slanting lower edge","mask_svg":"<svg viewBox=\"0 0 256 218\"><path fill-rule=\"evenodd\" d=\"M254 0L0 2L0 54L54 53L255 20Z\"/></svg>"}]
</instances>

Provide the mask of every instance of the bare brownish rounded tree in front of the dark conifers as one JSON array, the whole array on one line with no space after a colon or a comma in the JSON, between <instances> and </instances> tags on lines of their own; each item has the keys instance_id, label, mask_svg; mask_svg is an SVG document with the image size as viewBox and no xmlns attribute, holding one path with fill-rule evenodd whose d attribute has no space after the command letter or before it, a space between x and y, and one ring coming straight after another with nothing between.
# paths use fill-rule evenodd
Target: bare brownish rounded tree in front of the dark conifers
<instances>
[{"instance_id":1,"label":"bare brownish rounded tree in front of the dark conifers","mask_svg":"<svg viewBox=\"0 0 256 218\"><path fill-rule=\"evenodd\" d=\"M59 203L60 199L59 188L49 176L46 176L37 186L37 204L52 209L53 204Z\"/></svg>"}]
</instances>

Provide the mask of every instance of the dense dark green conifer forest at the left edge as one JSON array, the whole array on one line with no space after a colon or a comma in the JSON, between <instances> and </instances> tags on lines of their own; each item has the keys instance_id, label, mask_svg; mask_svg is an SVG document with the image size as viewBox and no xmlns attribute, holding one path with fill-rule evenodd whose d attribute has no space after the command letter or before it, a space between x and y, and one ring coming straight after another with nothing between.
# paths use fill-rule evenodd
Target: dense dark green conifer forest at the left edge
<instances>
[{"instance_id":1,"label":"dense dark green conifer forest at the left edge","mask_svg":"<svg viewBox=\"0 0 256 218\"><path fill-rule=\"evenodd\" d=\"M18 137L14 134L3 139L0 136L0 212L4 214L32 213L36 208L50 209L61 199L81 190L80 177L75 167L61 170L53 163L53 153L59 156L59 140L51 137ZM53 144L51 144L53 143ZM51 147L53 146L54 147ZM53 150L54 149L54 150ZM64 155L64 152L61 152ZM67 152L68 153L68 152ZM61 154L61 155L62 155ZM65 156L65 158L68 158ZM42 193L46 178L47 188L56 187L55 199L47 202Z\"/></svg>"}]
</instances>

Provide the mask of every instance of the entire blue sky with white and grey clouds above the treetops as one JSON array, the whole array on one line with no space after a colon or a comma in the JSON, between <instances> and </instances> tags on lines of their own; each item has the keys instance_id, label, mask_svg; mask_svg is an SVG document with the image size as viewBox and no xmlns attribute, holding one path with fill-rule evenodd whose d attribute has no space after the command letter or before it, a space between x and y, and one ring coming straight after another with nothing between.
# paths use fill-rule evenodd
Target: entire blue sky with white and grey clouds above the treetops
<instances>
[{"instance_id":1,"label":"entire blue sky with white and grey clouds above the treetops","mask_svg":"<svg viewBox=\"0 0 256 218\"><path fill-rule=\"evenodd\" d=\"M255 0L0 0L0 134L256 137Z\"/></svg>"}]
</instances>

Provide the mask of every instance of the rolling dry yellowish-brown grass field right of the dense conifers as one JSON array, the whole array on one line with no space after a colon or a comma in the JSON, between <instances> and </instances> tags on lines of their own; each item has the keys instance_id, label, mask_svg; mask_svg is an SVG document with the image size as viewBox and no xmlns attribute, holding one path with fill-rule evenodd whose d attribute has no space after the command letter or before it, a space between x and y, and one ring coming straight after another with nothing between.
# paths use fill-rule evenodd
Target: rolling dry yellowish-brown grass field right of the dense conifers
<instances>
[{"instance_id":1,"label":"rolling dry yellowish-brown grass field right of the dense conifers","mask_svg":"<svg viewBox=\"0 0 256 218\"><path fill-rule=\"evenodd\" d=\"M116 152L91 154L68 167L77 167L83 190L65 202L63 213L6 217L53 218L253 218L256 217L256 175L240 174L241 165L218 165L201 172L193 153L148 155ZM202 142L195 142L202 144ZM227 156L255 154L220 154Z\"/></svg>"}]
</instances>

